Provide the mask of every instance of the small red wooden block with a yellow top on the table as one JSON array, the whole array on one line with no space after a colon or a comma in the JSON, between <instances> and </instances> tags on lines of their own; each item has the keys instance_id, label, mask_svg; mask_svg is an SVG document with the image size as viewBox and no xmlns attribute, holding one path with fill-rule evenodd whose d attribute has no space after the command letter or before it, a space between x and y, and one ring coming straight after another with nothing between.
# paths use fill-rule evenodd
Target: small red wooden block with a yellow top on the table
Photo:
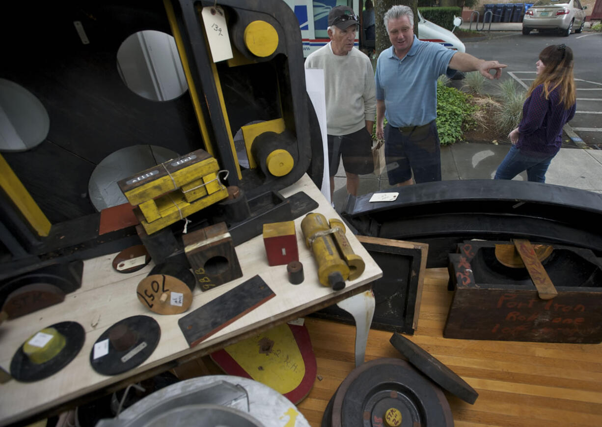
<instances>
[{"instance_id":1,"label":"small red wooden block with a yellow top on the table","mask_svg":"<svg viewBox=\"0 0 602 427\"><path fill-rule=\"evenodd\" d=\"M299 261L294 221L264 224L263 238L267 263L270 266L281 266L291 261Z\"/></svg>"}]
</instances>

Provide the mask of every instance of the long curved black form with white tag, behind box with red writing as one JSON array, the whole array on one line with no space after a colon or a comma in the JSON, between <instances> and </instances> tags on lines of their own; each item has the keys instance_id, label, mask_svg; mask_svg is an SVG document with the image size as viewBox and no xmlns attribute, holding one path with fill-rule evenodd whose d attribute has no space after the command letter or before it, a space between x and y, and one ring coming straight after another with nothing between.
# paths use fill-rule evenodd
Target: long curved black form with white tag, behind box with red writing
<instances>
[{"instance_id":1,"label":"long curved black form with white tag, behind box with red writing","mask_svg":"<svg viewBox=\"0 0 602 427\"><path fill-rule=\"evenodd\" d=\"M447 266L447 254L471 238L557 243L602 256L602 195L523 181L441 181L399 192L394 202L349 196L341 215L358 234L429 244L427 267Z\"/></svg>"}]
</instances>

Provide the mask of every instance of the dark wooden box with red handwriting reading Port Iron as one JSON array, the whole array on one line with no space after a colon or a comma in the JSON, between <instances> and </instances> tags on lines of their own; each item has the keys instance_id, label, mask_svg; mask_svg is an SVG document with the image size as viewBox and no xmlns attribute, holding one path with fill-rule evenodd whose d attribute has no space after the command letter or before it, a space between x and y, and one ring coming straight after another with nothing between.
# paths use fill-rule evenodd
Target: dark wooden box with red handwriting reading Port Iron
<instances>
[{"instance_id":1,"label":"dark wooden box with red handwriting reading Port Iron","mask_svg":"<svg viewBox=\"0 0 602 427\"><path fill-rule=\"evenodd\" d=\"M470 241L449 255L455 289L445 338L595 344L602 342L602 261L588 249L551 245L541 261L558 295L540 299L525 267L495 257L495 244Z\"/></svg>"}]
</instances>

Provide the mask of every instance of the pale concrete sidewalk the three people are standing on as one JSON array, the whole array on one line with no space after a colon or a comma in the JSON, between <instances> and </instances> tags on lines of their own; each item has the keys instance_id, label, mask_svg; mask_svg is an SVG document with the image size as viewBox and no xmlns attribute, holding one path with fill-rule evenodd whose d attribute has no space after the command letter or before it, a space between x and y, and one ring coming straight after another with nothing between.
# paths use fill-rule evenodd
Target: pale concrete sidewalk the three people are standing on
<instances>
[{"instance_id":1,"label":"pale concrete sidewalk the three people are standing on","mask_svg":"<svg viewBox=\"0 0 602 427\"><path fill-rule=\"evenodd\" d=\"M441 147L441 174L444 181L461 179L492 179L495 170L510 149L509 144L455 143ZM545 175L547 184L602 193L602 151L582 148L561 148ZM527 181L523 172L515 180ZM347 201L345 171L341 162L335 175L334 202L341 211ZM358 195L390 189L386 172L361 175Z\"/></svg>"}]
</instances>

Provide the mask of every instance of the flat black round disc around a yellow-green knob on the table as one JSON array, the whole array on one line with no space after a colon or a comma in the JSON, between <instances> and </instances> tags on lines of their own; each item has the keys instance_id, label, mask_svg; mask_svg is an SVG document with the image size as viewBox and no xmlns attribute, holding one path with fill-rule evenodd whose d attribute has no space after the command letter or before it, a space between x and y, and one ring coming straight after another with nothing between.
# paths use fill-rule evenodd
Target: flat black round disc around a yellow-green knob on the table
<instances>
[{"instance_id":1,"label":"flat black round disc around a yellow-green knob on the table","mask_svg":"<svg viewBox=\"0 0 602 427\"><path fill-rule=\"evenodd\" d=\"M17 381L33 382L48 378L67 366L78 355L84 345L85 331L83 326L77 322L55 323L48 326L48 328L57 329L65 337L65 346L51 360L36 364L32 363L23 352L23 344L25 343L21 344L10 362L10 375Z\"/></svg>"}]
</instances>

